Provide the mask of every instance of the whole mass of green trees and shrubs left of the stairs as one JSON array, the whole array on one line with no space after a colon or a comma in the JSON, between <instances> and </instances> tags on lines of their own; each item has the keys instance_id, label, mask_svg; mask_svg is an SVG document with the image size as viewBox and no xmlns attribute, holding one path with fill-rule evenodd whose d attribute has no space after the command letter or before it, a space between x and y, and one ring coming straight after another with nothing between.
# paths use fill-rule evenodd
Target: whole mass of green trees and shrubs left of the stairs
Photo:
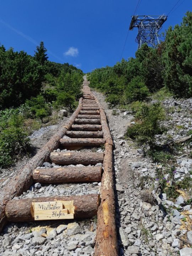
<instances>
[{"instance_id":1,"label":"whole mass of green trees and shrubs left of the stairs","mask_svg":"<svg viewBox=\"0 0 192 256\"><path fill-rule=\"evenodd\" d=\"M82 71L48 61L41 42L34 57L0 46L0 167L28 152L28 132L49 121L53 108L73 110L81 96Z\"/></svg>"}]
</instances>

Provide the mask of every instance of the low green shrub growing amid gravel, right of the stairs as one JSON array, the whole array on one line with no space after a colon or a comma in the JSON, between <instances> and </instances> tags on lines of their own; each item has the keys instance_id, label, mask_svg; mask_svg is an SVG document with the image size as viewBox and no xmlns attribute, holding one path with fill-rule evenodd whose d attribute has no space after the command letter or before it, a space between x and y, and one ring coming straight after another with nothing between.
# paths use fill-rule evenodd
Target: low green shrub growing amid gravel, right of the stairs
<instances>
[{"instance_id":1,"label":"low green shrub growing amid gravel, right of the stairs","mask_svg":"<svg viewBox=\"0 0 192 256\"><path fill-rule=\"evenodd\" d=\"M165 119L165 111L160 103L144 104L138 115L136 124L129 126L126 136L136 139L139 144L154 144L154 135L162 133L163 127L159 122Z\"/></svg>"}]
</instances>

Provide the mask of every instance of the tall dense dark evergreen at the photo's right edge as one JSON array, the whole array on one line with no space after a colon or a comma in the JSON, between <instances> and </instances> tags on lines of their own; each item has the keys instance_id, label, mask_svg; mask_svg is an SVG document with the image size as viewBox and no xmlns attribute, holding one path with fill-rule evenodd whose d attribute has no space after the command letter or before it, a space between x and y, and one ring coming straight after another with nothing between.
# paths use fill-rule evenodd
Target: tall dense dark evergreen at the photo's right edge
<instances>
[{"instance_id":1,"label":"tall dense dark evergreen at the photo's right edge","mask_svg":"<svg viewBox=\"0 0 192 256\"><path fill-rule=\"evenodd\" d=\"M163 43L163 78L176 95L192 96L192 12L183 17L181 26L167 30Z\"/></svg>"}]
</instances>

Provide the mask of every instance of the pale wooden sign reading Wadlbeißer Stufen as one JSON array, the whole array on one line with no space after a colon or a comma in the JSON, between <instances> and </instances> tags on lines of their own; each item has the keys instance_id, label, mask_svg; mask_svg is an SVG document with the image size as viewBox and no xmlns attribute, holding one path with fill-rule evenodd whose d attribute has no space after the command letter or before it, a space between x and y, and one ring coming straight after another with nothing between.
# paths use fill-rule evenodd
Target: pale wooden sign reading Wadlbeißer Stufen
<instances>
[{"instance_id":1,"label":"pale wooden sign reading Wadlbei\u00dfer Stufen","mask_svg":"<svg viewBox=\"0 0 192 256\"><path fill-rule=\"evenodd\" d=\"M34 220L74 219L73 201L34 202L31 214Z\"/></svg>"}]
</instances>

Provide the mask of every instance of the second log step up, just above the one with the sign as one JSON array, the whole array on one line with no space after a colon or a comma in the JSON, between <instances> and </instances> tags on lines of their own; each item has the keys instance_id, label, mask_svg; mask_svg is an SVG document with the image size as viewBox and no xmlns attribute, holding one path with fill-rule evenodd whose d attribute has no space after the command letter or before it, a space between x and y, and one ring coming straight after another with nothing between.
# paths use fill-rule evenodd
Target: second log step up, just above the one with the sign
<instances>
[{"instance_id":1,"label":"second log step up, just above the one with the sign","mask_svg":"<svg viewBox=\"0 0 192 256\"><path fill-rule=\"evenodd\" d=\"M44 168L33 171L33 181L41 183L99 182L102 166Z\"/></svg>"}]
</instances>

